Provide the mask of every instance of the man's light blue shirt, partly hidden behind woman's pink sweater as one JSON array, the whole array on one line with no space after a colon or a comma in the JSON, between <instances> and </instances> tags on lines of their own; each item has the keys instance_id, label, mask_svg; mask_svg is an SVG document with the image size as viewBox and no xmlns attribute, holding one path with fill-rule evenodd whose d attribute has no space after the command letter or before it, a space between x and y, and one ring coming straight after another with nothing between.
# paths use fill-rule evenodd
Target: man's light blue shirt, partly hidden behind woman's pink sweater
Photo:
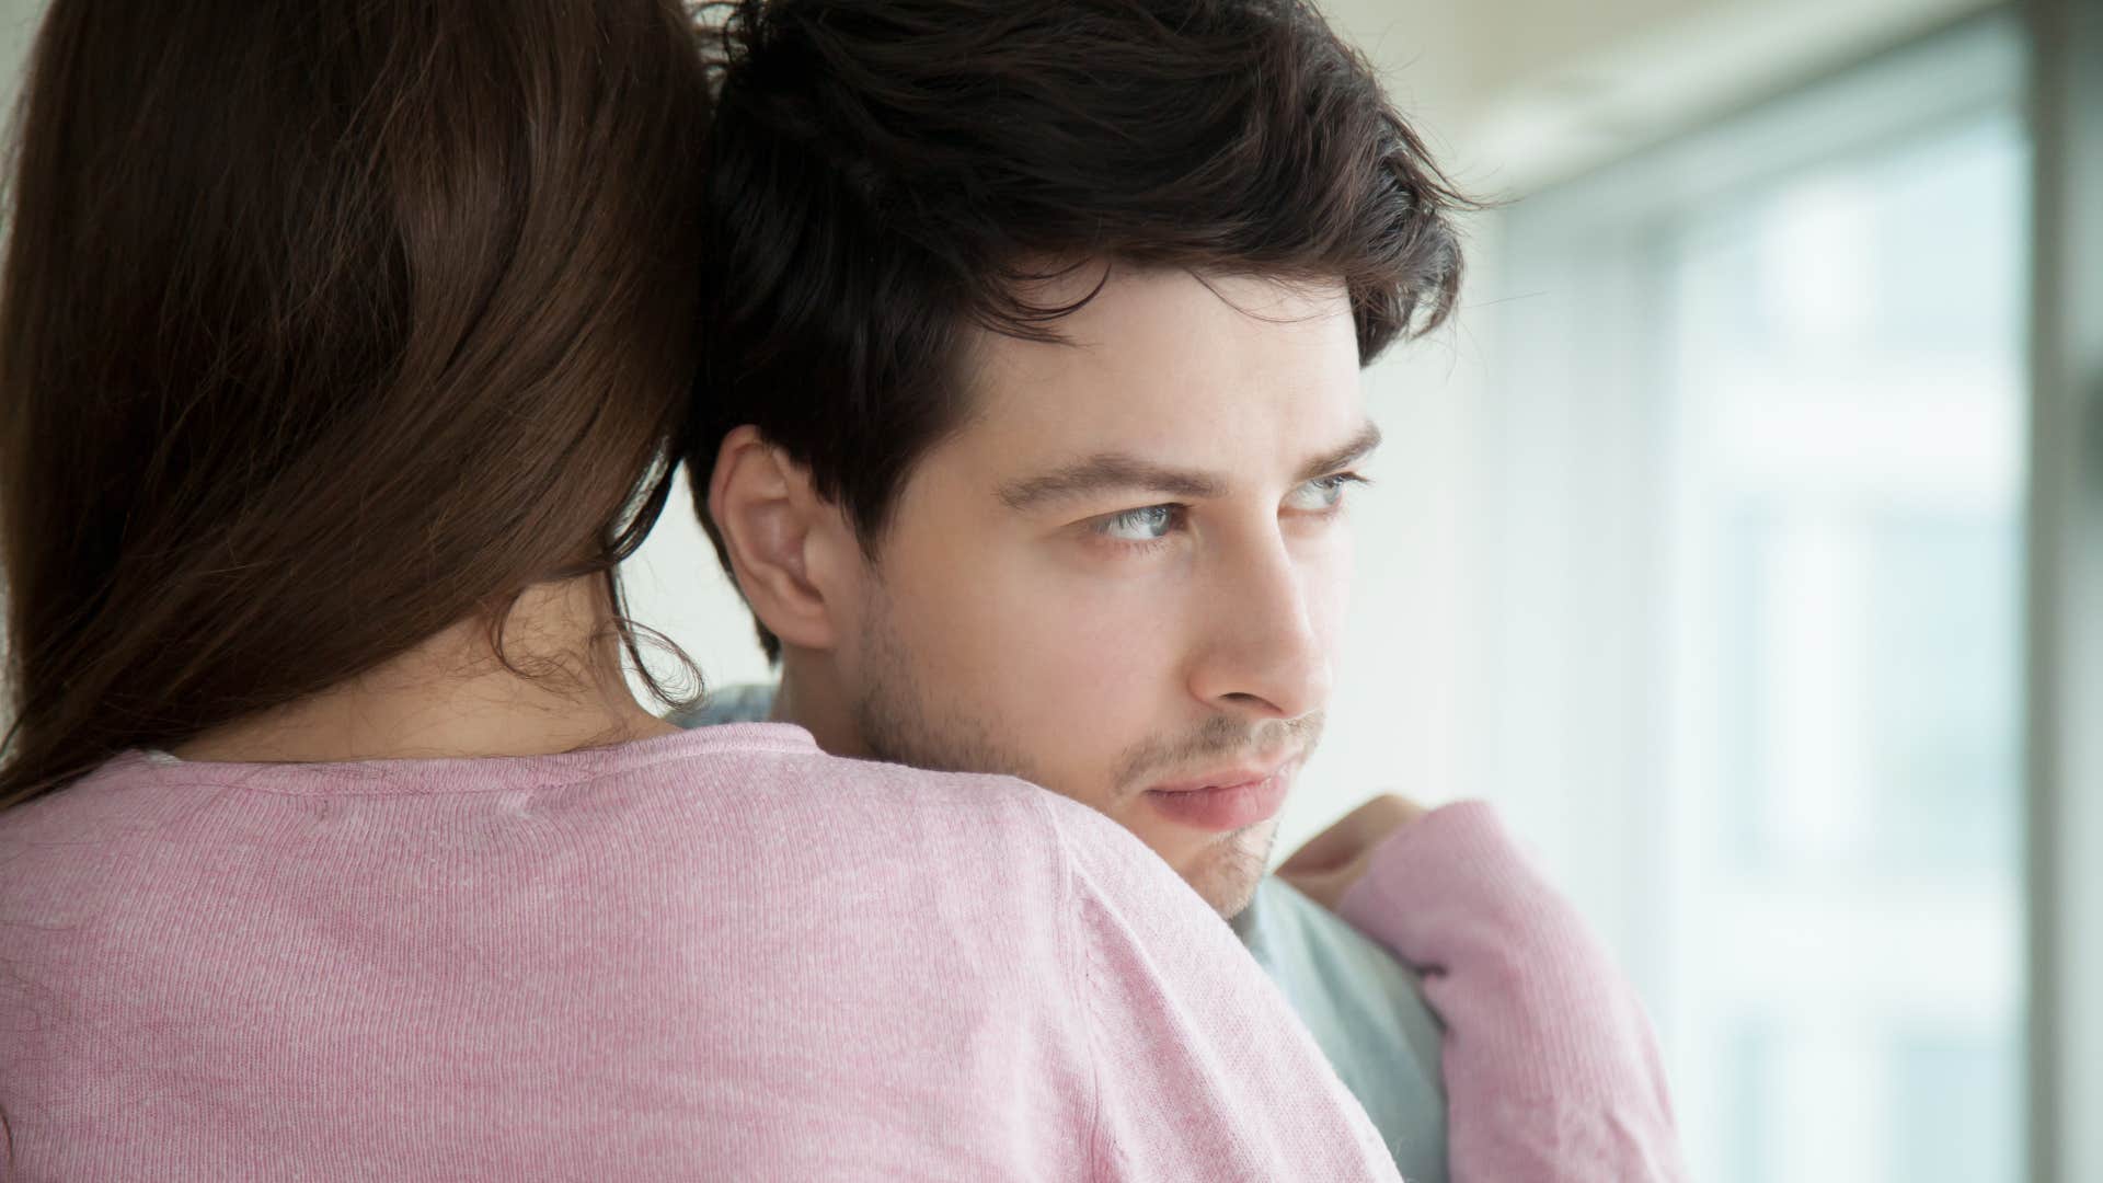
<instances>
[{"instance_id":1,"label":"man's light blue shirt, partly hidden behind woman's pink sweater","mask_svg":"<svg viewBox=\"0 0 2103 1183\"><path fill-rule=\"evenodd\" d=\"M723 686L673 722L759 722L772 707L772 686ZM1255 899L1228 924L1373 1118L1403 1179L1447 1183L1441 1027L1417 977L1277 876L1264 876Z\"/></svg>"}]
</instances>

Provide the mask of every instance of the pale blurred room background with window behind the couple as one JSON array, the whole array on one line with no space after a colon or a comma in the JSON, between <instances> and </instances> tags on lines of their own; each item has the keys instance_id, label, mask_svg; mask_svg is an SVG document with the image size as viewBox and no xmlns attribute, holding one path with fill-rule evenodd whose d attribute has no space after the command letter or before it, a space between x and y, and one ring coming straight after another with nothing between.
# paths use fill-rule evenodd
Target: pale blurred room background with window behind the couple
<instances>
[{"instance_id":1,"label":"pale blurred room background with window behind the couple","mask_svg":"<svg viewBox=\"0 0 2103 1183\"><path fill-rule=\"evenodd\" d=\"M1453 328L1367 375L1279 850L1499 802L1638 983L1697 1179L2103 1181L2099 8L1327 2L1502 204ZM635 615L763 680L681 505Z\"/></svg>"}]
</instances>

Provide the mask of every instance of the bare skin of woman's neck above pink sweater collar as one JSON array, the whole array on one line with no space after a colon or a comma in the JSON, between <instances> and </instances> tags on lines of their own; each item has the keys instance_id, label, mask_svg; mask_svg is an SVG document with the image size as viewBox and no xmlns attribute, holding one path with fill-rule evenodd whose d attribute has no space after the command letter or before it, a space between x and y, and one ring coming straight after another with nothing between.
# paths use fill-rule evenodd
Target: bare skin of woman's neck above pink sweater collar
<instances>
[{"instance_id":1,"label":"bare skin of woman's neck above pink sweater collar","mask_svg":"<svg viewBox=\"0 0 2103 1183\"><path fill-rule=\"evenodd\" d=\"M599 579L530 587L505 655L463 621L320 695L172 747L183 760L336 762L547 756L677 730L629 693Z\"/></svg>"}]
</instances>

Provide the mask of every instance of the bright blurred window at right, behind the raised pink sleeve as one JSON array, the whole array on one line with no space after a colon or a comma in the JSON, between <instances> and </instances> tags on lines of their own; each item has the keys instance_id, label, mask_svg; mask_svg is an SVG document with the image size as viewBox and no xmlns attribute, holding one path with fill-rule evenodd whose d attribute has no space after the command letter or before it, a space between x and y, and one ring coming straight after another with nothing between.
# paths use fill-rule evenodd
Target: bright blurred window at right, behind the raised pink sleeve
<instances>
[{"instance_id":1,"label":"bright blurred window at right, behind the raised pink sleeve","mask_svg":"<svg viewBox=\"0 0 2103 1183\"><path fill-rule=\"evenodd\" d=\"M1481 760L1697 1179L2023 1168L2017 84L1973 23L1508 217Z\"/></svg>"}]
</instances>

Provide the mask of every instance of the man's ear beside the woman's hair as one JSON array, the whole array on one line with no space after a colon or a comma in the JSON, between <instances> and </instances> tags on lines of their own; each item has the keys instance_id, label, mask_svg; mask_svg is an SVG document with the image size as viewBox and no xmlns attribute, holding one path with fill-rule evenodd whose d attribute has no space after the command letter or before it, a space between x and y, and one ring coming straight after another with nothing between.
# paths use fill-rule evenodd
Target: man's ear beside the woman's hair
<instances>
[{"instance_id":1,"label":"man's ear beside the woman's hair","mask_svg":"<svg viewBox=\"0 0 2103 1183\"><path fill-rule=\"evenodd\" d=\"M723 438L709 476L709 518L753 615L782 644L833 648L854 604L860 547L845 516L812 488L810 469L753 425Z\"/></svg>"}]
</instances>

